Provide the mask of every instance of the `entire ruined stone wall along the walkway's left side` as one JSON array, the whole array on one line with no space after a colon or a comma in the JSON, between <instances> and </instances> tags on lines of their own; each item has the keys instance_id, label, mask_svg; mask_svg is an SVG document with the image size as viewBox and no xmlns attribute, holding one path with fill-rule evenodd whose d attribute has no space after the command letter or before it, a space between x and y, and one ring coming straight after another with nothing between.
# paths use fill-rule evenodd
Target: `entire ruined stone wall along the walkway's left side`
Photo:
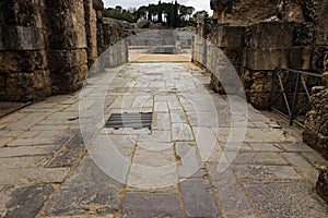
<instances>
[{"instance_id":1,"label":"entire ruined stone wall along the walkway's left side","mask_svg":"<svg viewBox=\"0 0 328 218\"><path fill-rule=\"evenodd\" d=\"M113 44L120 37L119 28L104 33L102 11L102 0L0 1L0 100L28 101L80 89L106 49L104 34L114 36ZM108 66L126 61L118 55Z\"/></svg>"}]
</instances>

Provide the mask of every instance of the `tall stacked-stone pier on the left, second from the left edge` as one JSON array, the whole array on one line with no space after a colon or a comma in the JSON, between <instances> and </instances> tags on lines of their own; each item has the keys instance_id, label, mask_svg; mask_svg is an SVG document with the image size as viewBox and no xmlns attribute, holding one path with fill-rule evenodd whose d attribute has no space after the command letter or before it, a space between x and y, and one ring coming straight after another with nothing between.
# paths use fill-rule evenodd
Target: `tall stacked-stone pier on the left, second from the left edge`
<instances>
[{"instance_id":1,"label":"tall stacked-stone pier on the left, second from the left edge","mask_svg":"<svg viewBox=\"0 0 328 218\"><path fill-rule=\"evenodd\" d=\"M44 20L52 94L82 87L87 74L83 0L45 1Z\"/></svg>"}]
</instances>

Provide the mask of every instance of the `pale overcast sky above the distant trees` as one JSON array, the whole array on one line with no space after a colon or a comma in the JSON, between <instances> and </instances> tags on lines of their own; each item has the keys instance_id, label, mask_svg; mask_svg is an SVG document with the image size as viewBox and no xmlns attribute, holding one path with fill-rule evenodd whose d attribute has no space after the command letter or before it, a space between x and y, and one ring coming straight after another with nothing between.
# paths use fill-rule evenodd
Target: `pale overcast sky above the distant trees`
<instances>
[{"instance_id":1,"label":"pale overcast sky above the distant trees","mask_svg":"<svg viewBox=\"0 0 328 218\"><path fill-rule=\"evenodd\" d=\"M148 5L149 3L159 3L159 0L103 0L105 8L114 8L116 5L121 5L124 9L129 8L139 8L141 5ZM172 2L173 0L162 0L162 2ZM178 3L185 4L188 7L194 7L196 11L206 10L210 14L212 11L210 9L210 0L178 0Z\"/></svg>"}]
</instances>

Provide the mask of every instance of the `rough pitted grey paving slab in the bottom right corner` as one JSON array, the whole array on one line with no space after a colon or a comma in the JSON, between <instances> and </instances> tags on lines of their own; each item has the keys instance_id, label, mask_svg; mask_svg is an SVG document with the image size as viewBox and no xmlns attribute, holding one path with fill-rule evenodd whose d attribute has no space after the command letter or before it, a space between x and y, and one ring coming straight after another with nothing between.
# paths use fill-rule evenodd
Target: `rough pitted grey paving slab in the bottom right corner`
<instances>
[{"instance_id":1,"label":"rough pitted grey paving slab in the bottom right corner","mask_svg":"<svg viewBox=\"0 0 328 218\"><path fill-rule=\"evenodd\" d=\"M304 181L244 184L262 217L327 217L327 205Z\"/></svg>"}]
</instances>

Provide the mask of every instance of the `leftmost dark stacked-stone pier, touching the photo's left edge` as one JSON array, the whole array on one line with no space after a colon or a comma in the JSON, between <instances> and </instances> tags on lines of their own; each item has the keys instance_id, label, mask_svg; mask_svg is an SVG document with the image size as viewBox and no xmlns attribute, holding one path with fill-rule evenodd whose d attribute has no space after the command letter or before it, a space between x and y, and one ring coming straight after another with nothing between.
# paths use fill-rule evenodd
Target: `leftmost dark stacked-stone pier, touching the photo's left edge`
<instances>
[{"instance_id":1,"label":"leftmost dark stacked-stone pier, touching the photo's left edge","mask_svg":"<svg viewBox=\"0 0 328 218\"><path fill-rule=\"evenodd\" d=\"M30 100L50 95L43 33L44 2L0 1L0 99Z\"/></svg>"}]
</instances>

